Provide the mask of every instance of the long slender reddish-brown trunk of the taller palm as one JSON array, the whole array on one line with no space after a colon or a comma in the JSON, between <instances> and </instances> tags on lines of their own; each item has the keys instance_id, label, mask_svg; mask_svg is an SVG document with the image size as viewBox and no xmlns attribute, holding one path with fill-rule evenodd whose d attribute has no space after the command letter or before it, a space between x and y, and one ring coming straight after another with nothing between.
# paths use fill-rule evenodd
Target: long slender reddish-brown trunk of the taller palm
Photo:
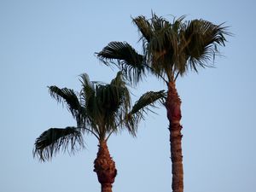
<instances>
[{"instance_id":1,"label":"long slender reddish-brown trunk of the taller palm","mask_svg":"<svg viewBox=\"0 0 256 192\"><path fill-rule=\"evenodd\" d=\"M167 118L169 119L171 157L172 157L172 191L183 192L183 155L182 125L180 125L181 100L177 95L175 82L168 84L166 99Z\"/></svg>"}]
</instances>

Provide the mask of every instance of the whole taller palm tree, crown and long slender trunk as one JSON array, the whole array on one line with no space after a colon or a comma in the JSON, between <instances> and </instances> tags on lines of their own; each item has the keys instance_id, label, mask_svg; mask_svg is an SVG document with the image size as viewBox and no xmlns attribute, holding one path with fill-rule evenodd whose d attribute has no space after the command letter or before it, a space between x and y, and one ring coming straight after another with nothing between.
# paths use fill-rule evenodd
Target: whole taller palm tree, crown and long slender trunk
<instances>
[{"instance_id":1,"label":"whole taller palm tree, crown and long slender trunk","mask_svg":"<svg viewBox=\"0 0 256 192\"><path fill-rule=\"evenodd\" d=\"M225 26L207 20L183 21L184 16L169 22L152 14L151 19L137 16L132 19L141 33L143 54L126 42L111 42L97 56L106 65L115 65L126 79L137 84L147 73L163 79L167 86L166 111L169 120L172 156L172 190L183 191L181 100L176 90L176 79L199 67L212 67L207 61L218 55L224 46Z\"/></svg>"}]
</instances>

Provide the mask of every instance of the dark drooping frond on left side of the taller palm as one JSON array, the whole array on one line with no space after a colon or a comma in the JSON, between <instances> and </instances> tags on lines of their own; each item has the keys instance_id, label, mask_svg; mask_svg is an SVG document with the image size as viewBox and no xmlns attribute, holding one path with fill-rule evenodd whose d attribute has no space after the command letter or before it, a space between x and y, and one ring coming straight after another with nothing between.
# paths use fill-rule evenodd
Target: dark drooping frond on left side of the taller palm
<instances>
[{"instance_id":1,"label":"dark drooping frond on left side of the taller palm","mask_svg":"<svg viewBox=\"0 0 256 192\"><path fill-rule=\"evenodd\" d=\"M131 83L136 84L148 70L143 55L138 54L126 42L111 42L96 54L106 65L113 64L119 67Z\"/></svg>"}]
</instances>

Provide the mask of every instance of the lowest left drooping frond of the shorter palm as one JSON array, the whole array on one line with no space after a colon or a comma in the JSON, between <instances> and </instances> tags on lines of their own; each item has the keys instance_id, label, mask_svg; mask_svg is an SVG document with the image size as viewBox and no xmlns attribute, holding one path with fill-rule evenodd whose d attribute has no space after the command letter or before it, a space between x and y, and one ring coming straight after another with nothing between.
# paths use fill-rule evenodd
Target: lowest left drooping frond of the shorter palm
<instances>
[{"instance_id":1,"label":"lowest left drooping frond of the shorter palm","mask_svg":"<svg viewBox=\"0 0 256 192\"><path fill-rule=\"evenodd\" d=\"M84 148L84 141L81 132L76 127L50 128L44 131L34 144L33 155L39 160L51 160L51 158L62 151L75 152Z\"/></svg>"}]
</instances>

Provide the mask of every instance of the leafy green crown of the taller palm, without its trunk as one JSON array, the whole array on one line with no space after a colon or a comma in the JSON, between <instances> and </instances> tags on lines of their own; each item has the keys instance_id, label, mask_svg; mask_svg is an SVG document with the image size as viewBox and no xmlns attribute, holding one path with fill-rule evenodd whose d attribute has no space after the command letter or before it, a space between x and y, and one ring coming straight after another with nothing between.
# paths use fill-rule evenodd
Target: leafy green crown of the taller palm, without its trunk
<instances>
[{"instance_id":1,"label":"leafy green crown of the taller palm, without its trunk","mask_svg":"<svg viewBox=\"0 0 256 192\"><path fill-rule=\"evenodd\" d=\"M134 83L147 71L168 82L189 69L198 72L198 67L211 67L207 62L218 55L218 45L225 45L225 35L230 34L227 27L207 20L183 20L184 16L172 23L154 14L149 20L137 16L133 23L141 33L143 54L126 42L111 42L97 56L105 64L117 65Z\"/></svg>"}]
</instances>

